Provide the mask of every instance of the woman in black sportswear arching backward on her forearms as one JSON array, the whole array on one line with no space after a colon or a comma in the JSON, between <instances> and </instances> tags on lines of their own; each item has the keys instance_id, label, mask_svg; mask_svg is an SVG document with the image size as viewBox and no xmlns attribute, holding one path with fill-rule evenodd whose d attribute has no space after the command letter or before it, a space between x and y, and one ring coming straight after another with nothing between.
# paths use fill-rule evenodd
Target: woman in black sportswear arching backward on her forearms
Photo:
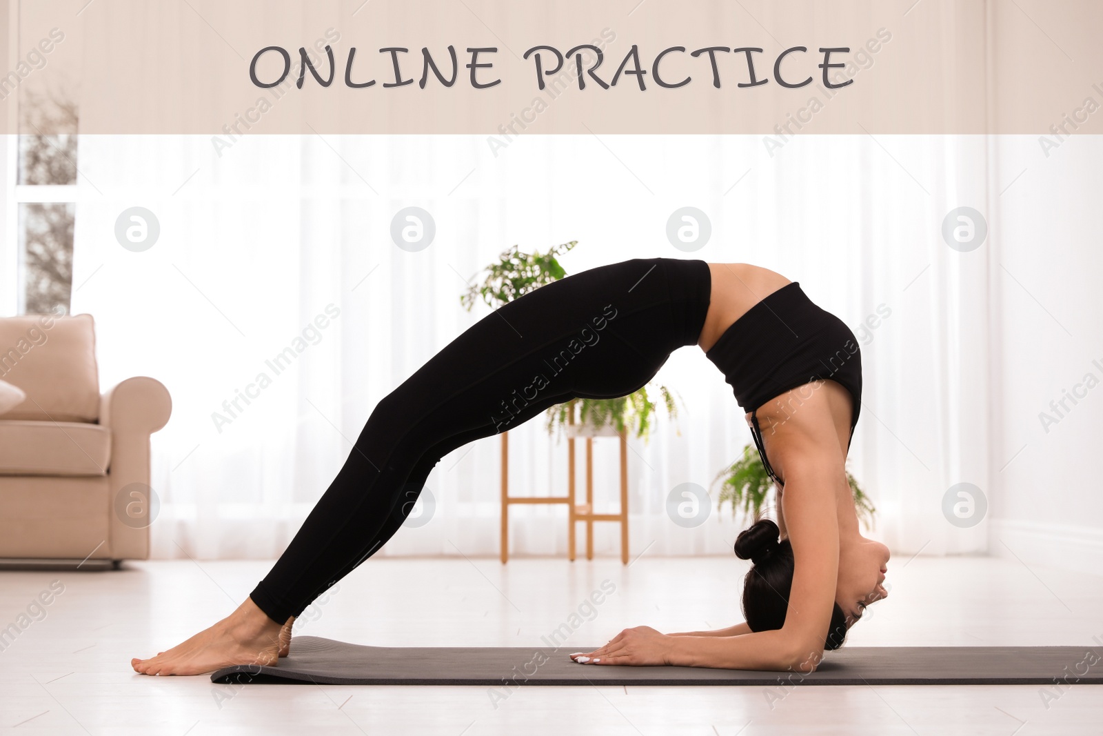
<instances>
[{"instance_id":1,"label":"woman in black sportswear arching backward on her forearms","mask_svg":"<svg viewBox=\"0 0 1103 736\"><path fill-rule=\"evenodd\" d=\"M144 674L276 664L295 617L386 543L440 459L575 397L630 394L671 352L699 345L746 412L778 489L781 526L739 534L751 559L746 623L663 634L625 629L583 664L810 671L884 598L888 548L858 531L844 463L861 359L850 330L796 282L747 264L638 258L554 281L488 314L379 401L302 527L225 619ZM786 538L779 538L784 535Z\"/></svg>"}]
</instances>

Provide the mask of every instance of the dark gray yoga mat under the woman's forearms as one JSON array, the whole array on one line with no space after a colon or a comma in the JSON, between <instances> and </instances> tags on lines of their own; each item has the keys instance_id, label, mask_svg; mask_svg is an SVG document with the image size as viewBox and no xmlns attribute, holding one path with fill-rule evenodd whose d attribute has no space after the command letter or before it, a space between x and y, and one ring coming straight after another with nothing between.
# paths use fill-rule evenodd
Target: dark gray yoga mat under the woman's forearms
<instances>
[{"instance_id":1,"label":"dark gray yoga mat under the woman's forearms","mask_svg":"<svg viewBox=\"0 0 1103 736\"><path fill-rule=\"evenodd\" d=\"M843 647L812 674L576 664L561 647L364 647L296 637L278 666L236 665L217 683L328 685L1034 685L1103 684L1103 647Z\"/></svg>"}]
</instances>

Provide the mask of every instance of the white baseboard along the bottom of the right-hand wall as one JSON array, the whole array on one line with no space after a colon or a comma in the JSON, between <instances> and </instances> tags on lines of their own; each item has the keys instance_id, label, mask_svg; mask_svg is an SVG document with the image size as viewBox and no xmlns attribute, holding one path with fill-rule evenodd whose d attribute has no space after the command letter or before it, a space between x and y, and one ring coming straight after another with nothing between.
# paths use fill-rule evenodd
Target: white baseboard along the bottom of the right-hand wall
<instances>
[{"instance_id":1,"label":"white baseboard along the bottom of the right-hand wall","mask_svg":"<svg viewBox=\"0 0 1103 736\"><path fill-rule=\"evenodd\" d=\"M993 519L988 522L988 554L1100 575L1103 570L1103 530Z\"/></svg>"}]
</instances>

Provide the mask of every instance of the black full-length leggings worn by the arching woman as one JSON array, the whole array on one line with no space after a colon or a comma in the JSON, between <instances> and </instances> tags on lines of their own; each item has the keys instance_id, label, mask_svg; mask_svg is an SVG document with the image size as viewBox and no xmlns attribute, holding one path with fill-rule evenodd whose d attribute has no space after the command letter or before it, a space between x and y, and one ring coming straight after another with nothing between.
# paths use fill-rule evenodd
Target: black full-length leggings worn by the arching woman
<instances>
[{"instance_id":1,"label":"black full-length leggings worn by the arching woman","mask_svg":"<svg viewBox=\"0 0 1103 736\"><path fill-rule=\"evenodd\" d=\"M278 623L398 531L440 459L571 398L647 383L697 343L711 276L703 260L625 260L568 276L479 320L372 412L349 459L250 594Z\"/></svg>"}]
</instances>

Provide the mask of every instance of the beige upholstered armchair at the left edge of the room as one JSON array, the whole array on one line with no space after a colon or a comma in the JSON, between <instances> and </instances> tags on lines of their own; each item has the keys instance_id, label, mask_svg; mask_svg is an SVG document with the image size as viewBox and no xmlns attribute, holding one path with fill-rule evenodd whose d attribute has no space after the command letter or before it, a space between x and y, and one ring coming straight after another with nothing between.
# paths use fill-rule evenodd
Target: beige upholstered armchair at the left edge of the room
<instances>
[{"instance_id":1,"label":"beige upholstered armchair at the left edge of the room","mask_svg":"<svg viewBox=\"0 0 1103 736\"><path fill-rule=\"evenodd\" d=\"M0 558L149 557L168 390L140 376L100 395L90 314L0 318L0 381L26 395L0 414Z\"/></svg>"}]
</instances>

